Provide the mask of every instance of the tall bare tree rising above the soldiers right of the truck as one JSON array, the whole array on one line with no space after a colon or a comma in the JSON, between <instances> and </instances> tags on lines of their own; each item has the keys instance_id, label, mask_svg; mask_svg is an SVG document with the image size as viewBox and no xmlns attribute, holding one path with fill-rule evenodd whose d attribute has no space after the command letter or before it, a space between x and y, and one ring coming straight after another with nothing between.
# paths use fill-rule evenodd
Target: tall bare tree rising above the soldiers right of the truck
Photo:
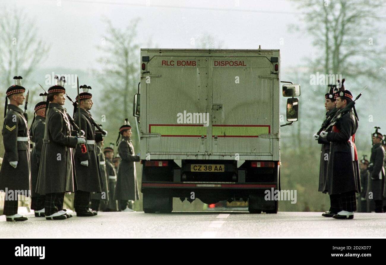
<instances>
[{"instance_id":1,"label":"tall bare tree rising above the soldiers right of the truck","mask_svg":"<svg viewBox=\"0 0 386 265\"><path fill-rule=\"evenodd\" d=\"M314 58L317 70L325 74L342 74L351 79L361 76L379 79L374 62L381 47L374 42L379 36L377 13L383 0L298 0L305 13L306 33L320 50ZM327 89L327 88L326 88Z\"/></svg>"}]
</instances>

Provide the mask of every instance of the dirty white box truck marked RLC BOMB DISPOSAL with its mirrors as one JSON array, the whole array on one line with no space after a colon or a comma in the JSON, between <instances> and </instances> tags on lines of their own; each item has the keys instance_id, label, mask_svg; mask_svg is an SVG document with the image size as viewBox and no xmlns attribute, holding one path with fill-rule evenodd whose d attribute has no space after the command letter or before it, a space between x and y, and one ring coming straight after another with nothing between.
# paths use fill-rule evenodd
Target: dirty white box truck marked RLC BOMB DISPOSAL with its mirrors
<instances>
[{"instance_id":1,"label":"dirty white box truck marked RLC BOMB DISPOSAL with its mirrors","mask_svg":"<svg viewBox=\"0 0 386 265\"><path fill-rule=\"evenodd\" d=\"M133 115L145 213L171 212L173 197L277 213L264 191L280 189L280 126L297 120L300 95L285 83L279 50L141 49ZM292 97L283 125L281 94Z\"/></svg>"}]
</instances>

